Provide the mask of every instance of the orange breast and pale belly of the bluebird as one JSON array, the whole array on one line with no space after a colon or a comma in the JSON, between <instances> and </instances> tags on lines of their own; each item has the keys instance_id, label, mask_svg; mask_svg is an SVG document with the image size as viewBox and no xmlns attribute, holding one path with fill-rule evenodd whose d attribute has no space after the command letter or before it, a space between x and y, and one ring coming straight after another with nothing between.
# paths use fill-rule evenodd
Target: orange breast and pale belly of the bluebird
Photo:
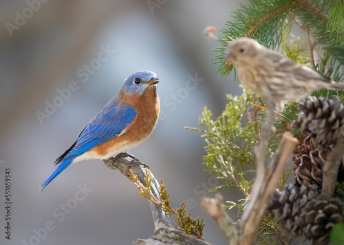
<instances>
[{"instance_id":1,"label":"orange breast and pale belly of the bluebird","mask_svg":"<svg viewBox=\"0 0 344 245\"><path fill-rule=\"evenodd\" d=\"M159 117L160 102L158 93L156 93L156 86L151 86L142 95L138 93L127 95L120 92L118 97L125 104L133 107L137 114L130 126L121 135L92 149L93 154L102 156L103 159L116 156L120 152L130 150L142 143L153 132Z\"/></svg>"}]
</instances>

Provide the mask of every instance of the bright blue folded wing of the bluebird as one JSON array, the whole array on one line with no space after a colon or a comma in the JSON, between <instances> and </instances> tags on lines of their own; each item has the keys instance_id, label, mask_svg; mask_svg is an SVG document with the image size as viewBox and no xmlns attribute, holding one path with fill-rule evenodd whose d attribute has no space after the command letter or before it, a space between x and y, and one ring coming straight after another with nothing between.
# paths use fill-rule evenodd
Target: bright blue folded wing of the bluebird
<instances>
[{"instance_id":1,"label":"bright blue folded wing of the bluebird","mask_svg":"<svg viewBox=\"0 0 344 245\"><path fill-rule=\"evenodd\" d=\"M55 164L83 154L96 145L120 135L136 117L136 110L128 105L109 104L80 132L76 142L63 153Z\"/></svg>"}]
</instances>

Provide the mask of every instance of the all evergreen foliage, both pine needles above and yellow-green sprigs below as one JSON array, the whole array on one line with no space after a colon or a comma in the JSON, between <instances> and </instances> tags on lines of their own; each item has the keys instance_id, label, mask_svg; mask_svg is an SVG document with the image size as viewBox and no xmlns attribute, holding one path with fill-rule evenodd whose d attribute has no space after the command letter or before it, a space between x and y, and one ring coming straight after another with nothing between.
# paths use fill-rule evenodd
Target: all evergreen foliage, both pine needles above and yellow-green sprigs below
<instances>
[{"instance_id":1,"label":"all evergreen foliage, both pine needles above and yellow-green sprigs below","mask_svg":"<svg viewBox=\"0 0 344 245\"><path fill-rule=\"evenodd\" d=\"M228 42L240 37L256 39L270 49L278 49L284 56L302 65L316 69L321 75L331 77L336 82L344 82L344 1L324 0L250 0L248 5L240 4L233 11L233 20L226 23L217 36L220 47L215 48L218 55L213 64L218 65L217 73L226 78L235 67L224 62ZM305 32L305 37L293 36L290 32L297 25ZM317 56L314 56L314 52ZM242 197L239 200L227 200L226 209L237 209L239 214L246 208L250 188L255 178L254 148L259 144L259 132L266 117L264 102L252 95L244 86L239 96L226 95L228 104L222 115L213 119L211 110L204 108L199 124L202 128L189 128L202 132L206 141L206 156L203 158L205 170L223 180L222 185L212 191L235 188ZM332 97L343 100L342 91L323 89L312 95ZM279 146L281 134L292 132L302 142L305 135L299 128L292 128L297 119L298 104L286 104L285 110L275 119L275 132L269 139L266 158L270 158ZM252 174L253 173L253 174ZM292 169L284 172L279 189L293 174ZM344 191L341 190L343 194ZM337 196L341 196L338 194ZM267 213L261 222L259 244L290 244L292 237L279 231L276 220ZM332 230L331 241L343 242L343 223ZM341 234L341 235L340 235ZM334 244L340 244L334 242Z\"/></svg>"}]
</instances>

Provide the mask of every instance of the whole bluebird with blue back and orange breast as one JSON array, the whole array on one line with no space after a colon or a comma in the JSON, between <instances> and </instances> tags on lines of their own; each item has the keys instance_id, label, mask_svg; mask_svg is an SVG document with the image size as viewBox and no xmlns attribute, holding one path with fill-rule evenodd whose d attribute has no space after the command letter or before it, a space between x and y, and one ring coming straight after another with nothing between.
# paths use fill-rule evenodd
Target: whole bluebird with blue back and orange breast
<instances>
[{"instance_id":1,"label":"whole bluebird with blue back and orange breast","mask_svg":"<svg viewBox=\"0 0 344 245\"><path fill-rule=\"evenodd\" d=\"M40 189L43 190L71 163L85 159L108 159L147 139L159 117L158 82L152 71L138 71L130 75L122 89L80 132L75 143L56 159L54 165L60 165Z\"/></svg>"}]
</instances>

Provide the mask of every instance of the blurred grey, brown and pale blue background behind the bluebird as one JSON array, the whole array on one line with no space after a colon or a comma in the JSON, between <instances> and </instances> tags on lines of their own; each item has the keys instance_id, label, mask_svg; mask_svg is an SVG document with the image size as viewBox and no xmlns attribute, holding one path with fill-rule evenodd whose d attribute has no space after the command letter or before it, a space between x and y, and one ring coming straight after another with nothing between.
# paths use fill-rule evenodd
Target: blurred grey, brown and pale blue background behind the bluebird
<instances>
[{"instance_id":1,"label":"blurred grey, brown and pale blue background behind the bluebird","mask_svg":"<svg viewBox=\"0 0 344 245\"><path fill-rule=\"evenodd\" d=\"M208 25L224 27L237 6L237 0L1 0L0 244L122 245L153 235L147 200L102 161L72 165L39 194L54 160L141 69L161 80L162 114L151 137L130 152L164 180L174 207L195 201L189 211L204 218L206 241L228 244L200 207L217 184L203 171L204 140L183 127L197 126L204 106L217 117L226 93L240 93L233 77L215 74L210 59L218 44L202 34ZM190 86L191 78L202 82ZM12 173L10 241L3 233L6 168ZM78 185L92 191L75 202ZM46 222L54 229L32 238Z\"/></svg>"}]
</instances>

